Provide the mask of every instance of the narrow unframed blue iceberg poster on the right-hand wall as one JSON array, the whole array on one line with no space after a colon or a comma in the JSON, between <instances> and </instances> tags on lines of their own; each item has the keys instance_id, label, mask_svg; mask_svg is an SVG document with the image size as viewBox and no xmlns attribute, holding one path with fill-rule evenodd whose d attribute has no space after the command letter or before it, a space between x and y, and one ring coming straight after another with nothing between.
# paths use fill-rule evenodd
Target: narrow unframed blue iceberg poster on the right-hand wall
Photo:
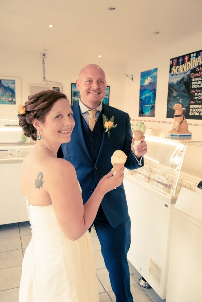
<instances>
[{"instance_id":1,"label":"narrow unframed blue iceberg poster on the right-hand wall","mask_svg":"<svg viewBox=\"0 0 202 302\"><path fill-rule=\"evenodd\" d=\"M155 117L157 68L141 72L139 116Z\"/></svg>"}]
</instances>

